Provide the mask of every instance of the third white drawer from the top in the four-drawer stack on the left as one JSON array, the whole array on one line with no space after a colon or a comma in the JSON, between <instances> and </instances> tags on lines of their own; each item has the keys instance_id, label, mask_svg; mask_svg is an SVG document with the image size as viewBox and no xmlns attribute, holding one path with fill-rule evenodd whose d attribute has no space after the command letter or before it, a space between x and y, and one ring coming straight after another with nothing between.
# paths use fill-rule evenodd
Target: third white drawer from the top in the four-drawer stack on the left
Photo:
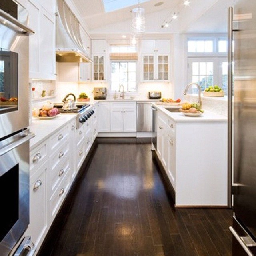
<instances>
[{"instance_id":1,"label":"third white drawer from the top in the four-drawer stack on the left","mask_svg":"<svg viewBox=\"0 0 256 256\"><path fill-rule=\"evenodd\" d=\"M70 170L70 158L65 158L64 161L60 162L54 170L50 172L51 179L51 192L53 192L58 184L63 180L64 176Z\"/></svg>"}]
</instances>

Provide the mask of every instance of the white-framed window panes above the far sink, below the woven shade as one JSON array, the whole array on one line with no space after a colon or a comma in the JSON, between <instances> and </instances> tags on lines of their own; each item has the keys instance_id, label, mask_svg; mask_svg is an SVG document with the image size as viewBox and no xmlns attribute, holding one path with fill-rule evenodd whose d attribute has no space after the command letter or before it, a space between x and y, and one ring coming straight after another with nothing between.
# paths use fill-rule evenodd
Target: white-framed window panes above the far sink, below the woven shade
<instances>
[{"instance_id":1,"label":"white-framed window panes above the far sink, below the woven shade","mask_svg":"<svg viewBox=\"0 0 256 256\"><path fill-rule=\"evenodd\" d=\"M120 84L125 92L136 92L136 62L112 61L111 62L111 90L118 91Z\"/></svg>"}]
</instances>

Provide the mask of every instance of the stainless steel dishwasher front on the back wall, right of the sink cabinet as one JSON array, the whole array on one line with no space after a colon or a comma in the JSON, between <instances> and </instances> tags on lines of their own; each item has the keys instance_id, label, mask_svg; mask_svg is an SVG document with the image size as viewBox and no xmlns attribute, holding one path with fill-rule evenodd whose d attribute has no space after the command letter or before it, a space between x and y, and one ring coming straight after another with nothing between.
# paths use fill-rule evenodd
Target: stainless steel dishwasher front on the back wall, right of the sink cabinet
<instances>
[{"instance_id":1,"label":"stainless steel dishwasher front on the back wall, right of the sink cabinet","mask_svg":"<svg viewBox=\"0 0 256 256\"><path fill-rule=\"evenodd\" d=\"M137 102L137 132L152 132L152 109L150 102Z\"/></svg>"}]
</instances>

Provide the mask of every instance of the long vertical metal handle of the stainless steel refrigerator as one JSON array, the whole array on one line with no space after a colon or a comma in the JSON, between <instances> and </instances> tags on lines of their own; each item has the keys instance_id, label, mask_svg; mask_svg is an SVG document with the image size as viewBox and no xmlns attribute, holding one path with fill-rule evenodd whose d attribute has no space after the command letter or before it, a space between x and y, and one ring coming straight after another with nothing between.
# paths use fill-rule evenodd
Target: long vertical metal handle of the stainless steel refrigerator
<instances>
[{"instance_id":1,"label":"long vertical metal handle of the stainless steel refrigerator","mask_svg":"<svg viewBox=\"0 0 256 256\"><path fill-rule=\"evenodd\" d=\"M228 207L232 207L233 172L233 8L228 8Z\"/></svg>"}]
</instances>

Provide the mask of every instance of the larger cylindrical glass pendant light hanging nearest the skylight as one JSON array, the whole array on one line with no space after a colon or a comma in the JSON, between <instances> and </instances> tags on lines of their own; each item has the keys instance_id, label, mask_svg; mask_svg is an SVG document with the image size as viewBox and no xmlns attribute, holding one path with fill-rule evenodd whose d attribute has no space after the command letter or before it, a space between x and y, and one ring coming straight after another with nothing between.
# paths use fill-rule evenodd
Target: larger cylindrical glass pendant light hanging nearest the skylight
<instances>
[{"instance_id":1,"label":"larger cylindrical glass pendant light hanging nearest the skylight","mask_svg":"<svg viewBox=\"0 0 256 256\"><path fill-rule=\"evenodd\" d=\"M132 32L143 34L145 31L145 9L140 7L140 1L138 0L138 7L132 9Z\"/></svg>"}]
</instances>

